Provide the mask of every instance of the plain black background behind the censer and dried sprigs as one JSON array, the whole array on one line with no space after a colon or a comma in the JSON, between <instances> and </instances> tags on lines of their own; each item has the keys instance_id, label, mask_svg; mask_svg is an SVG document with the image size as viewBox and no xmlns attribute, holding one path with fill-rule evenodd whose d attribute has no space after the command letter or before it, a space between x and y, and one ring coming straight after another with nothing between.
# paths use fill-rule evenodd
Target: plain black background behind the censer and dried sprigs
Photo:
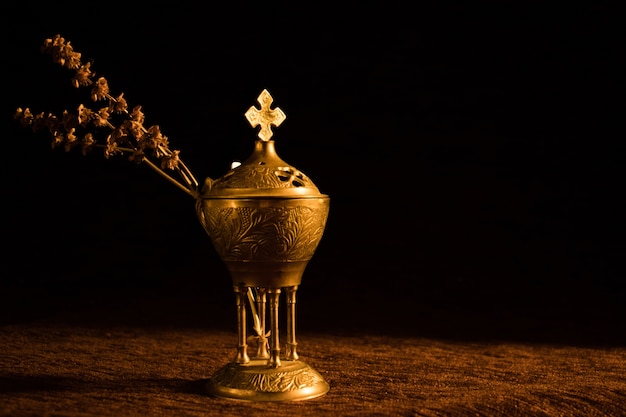
<instances>
[{"instance_id":1,"label":"plain black background behind the censer and dried sprigs","mask_svg":"<svg viewBox=\"0 0 626 417\"><path fill-rule=\"evenodd\" d=\"M3 6L3 322L150 300L180 323L234 320L193 199L11 120L84 100L39 53L58 33L200 180L251 153L243 114L270 91L279 155L332 199L301 327L623 343L617 7L338 7Z\"/></svg>"}]
</instances>

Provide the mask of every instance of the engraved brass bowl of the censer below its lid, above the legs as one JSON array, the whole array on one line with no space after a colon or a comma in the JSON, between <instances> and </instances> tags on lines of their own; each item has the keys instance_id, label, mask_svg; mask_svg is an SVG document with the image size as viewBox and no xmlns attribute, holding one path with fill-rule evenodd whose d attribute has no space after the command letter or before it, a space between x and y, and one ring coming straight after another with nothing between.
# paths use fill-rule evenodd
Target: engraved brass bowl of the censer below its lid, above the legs
<instances>
[{"instance_id":1,"label":"engraved brass bowl of the censer below its lid, above the legs","mask_svg":"<svg viewBox=\"0 0 626 417\"><path fill-rule=\"evenodd\" d=\"M329 199L203 199L205 230L233 284L300 285L328 216Z\"/></svg>"}]
</instances>

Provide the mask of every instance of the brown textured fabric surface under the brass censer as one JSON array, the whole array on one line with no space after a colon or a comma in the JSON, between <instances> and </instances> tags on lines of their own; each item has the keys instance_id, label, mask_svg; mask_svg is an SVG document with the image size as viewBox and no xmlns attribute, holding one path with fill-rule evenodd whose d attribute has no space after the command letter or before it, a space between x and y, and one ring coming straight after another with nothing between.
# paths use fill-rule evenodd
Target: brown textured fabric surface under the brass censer
<instances>
[{"instance_id":1,"label":"brown textured fabric surface under the brass censer","mask_svg":"<svg viewBox=\"0 0 626 417\"><path fill-rule=\"evenodd\" d=\"M301 360L330 391L251 403L204 390L236 342L234 330L129 326L106 314L5 324L0 416L626 415L626 348L619 346L303 330Z\"/></svg>"}]
</instances>

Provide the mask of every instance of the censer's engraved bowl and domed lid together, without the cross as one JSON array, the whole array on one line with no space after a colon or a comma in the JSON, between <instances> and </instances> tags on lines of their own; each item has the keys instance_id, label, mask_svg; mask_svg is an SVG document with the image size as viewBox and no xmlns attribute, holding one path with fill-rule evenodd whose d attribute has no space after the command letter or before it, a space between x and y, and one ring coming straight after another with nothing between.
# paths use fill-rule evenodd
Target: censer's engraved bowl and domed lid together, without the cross
<instances>
[{"instance_id":1,"label":"censer's engraved bowl and domed lid together, without the cross","mask_svg":"<svg viewBox=\"0 0 626 417\"><path fill-rule=\"evenodd\" d=\"M206 187L197 212L233 284L282 288L300 285L329 202L273 141L257 141L248 161Z\"/></svg>"}]
</instances>

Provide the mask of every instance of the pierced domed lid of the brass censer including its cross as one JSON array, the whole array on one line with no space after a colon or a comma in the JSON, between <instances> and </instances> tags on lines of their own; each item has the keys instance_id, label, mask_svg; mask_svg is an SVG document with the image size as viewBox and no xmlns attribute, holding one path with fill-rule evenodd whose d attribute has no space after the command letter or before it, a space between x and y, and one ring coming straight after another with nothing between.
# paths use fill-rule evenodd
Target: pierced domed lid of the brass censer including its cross
<instances>
[{"instance_id":1,"label":"pierced domed lid of the brass censer including its cross","mask_svg":"<svg viewBox=\"0 0 626 417\"><path fill-rule=\"evenodd\" d=\"M271 140L271 126L286 118L276 107L272 96L263 90L257 98L260 109L251 106L245 113L252 127L261 126L254 151L241 165L231 168L217 180L207 179L201 198L300 198L324 196L313 182L298 169L283 161Z\"/></svg>"}]
</instances>

